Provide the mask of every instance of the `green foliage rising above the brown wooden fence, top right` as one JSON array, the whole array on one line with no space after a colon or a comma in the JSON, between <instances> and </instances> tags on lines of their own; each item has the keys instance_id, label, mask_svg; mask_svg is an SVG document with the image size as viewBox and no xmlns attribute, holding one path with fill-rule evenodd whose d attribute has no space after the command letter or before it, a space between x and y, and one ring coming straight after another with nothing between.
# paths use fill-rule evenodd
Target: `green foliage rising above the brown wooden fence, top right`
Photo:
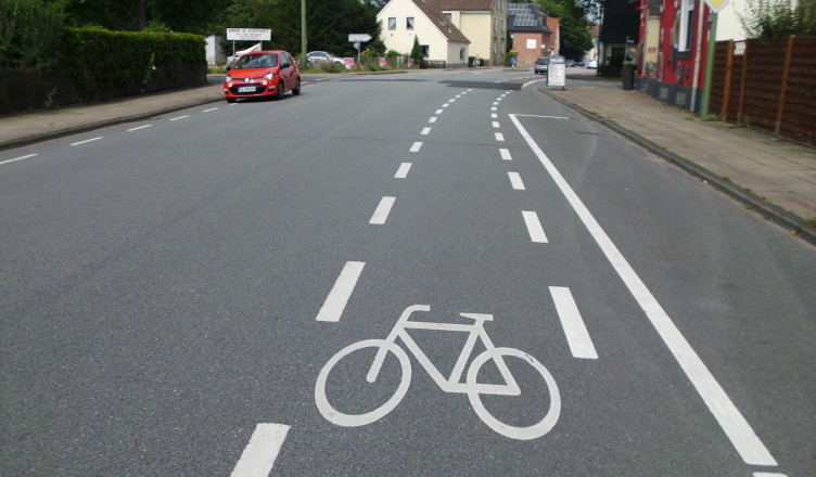
<instances>
[{"instance_id":1,"label":"green foliage rising above the brown wooden fence, top right","mask_svg":"<svg viewBox=\"0 0 816 477\"><path fill-rule=\"evenodd\" d=\"M754 0L738 14L749 38L816 35L816 0Z\"/></svg>"}]
</instances>

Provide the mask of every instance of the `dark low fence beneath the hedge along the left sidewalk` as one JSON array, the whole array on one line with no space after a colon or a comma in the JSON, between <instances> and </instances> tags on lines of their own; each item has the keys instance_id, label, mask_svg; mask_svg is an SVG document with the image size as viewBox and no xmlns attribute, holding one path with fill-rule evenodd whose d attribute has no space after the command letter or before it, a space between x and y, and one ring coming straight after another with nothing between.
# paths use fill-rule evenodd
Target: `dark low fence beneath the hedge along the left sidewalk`
<instances>
[{"instance_id":1,"label":"dark low fence beneath the hedge along the left sidewalk","mask_svg":"<svg viewBox=\"0 0 816 477\"><path fill-rule=\"evenodd\" d=\"M132 79L123 85L98 85L80 90L68 73L49 73L39 68L0 70L0 115L41 107L93 102L175 88L203 86L207 65L182 64L175 74L157 67L146 80Z\"/></svg>"}]
</instances>

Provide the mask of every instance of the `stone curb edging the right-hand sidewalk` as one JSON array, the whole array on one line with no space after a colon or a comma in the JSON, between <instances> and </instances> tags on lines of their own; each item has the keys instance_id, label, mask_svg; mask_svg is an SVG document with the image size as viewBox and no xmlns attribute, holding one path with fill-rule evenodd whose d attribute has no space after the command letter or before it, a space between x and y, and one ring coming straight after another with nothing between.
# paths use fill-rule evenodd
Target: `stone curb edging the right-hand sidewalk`
<instances>
[{"instance_id":1,"label":"stone curb edging the right-hand sidewalk","mask_svg":"<svg viewBox=\"0 0 816 477\"><path fill-rule=\"evenodd\" d=\"M765 218L772 220L776 224L787 229L788 231L790 231L792 235L795 235L804 240L811 245L816 245L816 229L809 227L802 217L799 217L798 215L792 214L779 207L778 205L774 205L766 201L763 201L762 197L751 192L745 191L744 189L740 188L734 182L725 181L721 179L717 175L713 173L709 169L701 167L700 165L694 164L691 160L668 151L667 149L661 146L660 144L643 138L637 132L630 131L620 126L615 121L609 120L596 113L592 113L591 111L585 109L566 100L558 98L556 94L553 94L549 90L538 88L538 91L547 94L549 98L552 98L559 103L581 113L587 118L596 123L600 123L601 125L617 132L619 134L623 136L624 138L634 142L635 144L638 144L641 147L645 147L646 150L648 150L649 152L656 154L658 156L663 157L665 160L678 166L680 169L685 170L686 172L689 172L690 175L704 180L705 182L711 184L714 189L719 190L721 192L725 193L729 197L735 198L750 206L753 211L763 215Z\"/></svg>"}]
</instances>

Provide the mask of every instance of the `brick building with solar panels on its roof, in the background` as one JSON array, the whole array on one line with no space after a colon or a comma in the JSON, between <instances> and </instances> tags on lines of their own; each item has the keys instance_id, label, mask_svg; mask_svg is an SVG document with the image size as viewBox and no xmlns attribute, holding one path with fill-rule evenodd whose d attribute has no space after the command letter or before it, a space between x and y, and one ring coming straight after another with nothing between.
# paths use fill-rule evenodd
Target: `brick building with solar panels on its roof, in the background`
<instances>
[{"instance_id":1,"label":"brick building with solar panels on its roof, in the background","mask_svg":"<svg viewBox=\"0 0 816 477\"><path fill-rule=\"evenodd\" d=\"M552 53L552 30L545 15L535 3L510 3L507 24L520 66L530 66L541 56Z\"/></svg>"}]
</instances>

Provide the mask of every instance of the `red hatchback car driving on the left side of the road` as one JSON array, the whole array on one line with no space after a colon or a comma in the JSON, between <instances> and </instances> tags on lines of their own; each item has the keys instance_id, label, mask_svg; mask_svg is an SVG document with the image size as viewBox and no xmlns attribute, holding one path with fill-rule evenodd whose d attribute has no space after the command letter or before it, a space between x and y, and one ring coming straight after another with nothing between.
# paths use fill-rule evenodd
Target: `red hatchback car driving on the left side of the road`
<instances>
[{"instance_id":1,"label":"red hatchback car driving on the left side of the road","mask_svg":"<svg viewBox=\"0 0 816 477\"><path fill-rule=\"evenodd\" d=\"M301 94L301 72L285 51L247 53L232 68L227 68L224 96L228 103L234 103L239 98L272 96L280 100L286 91Z\"/></svg>"}]
</instances>

